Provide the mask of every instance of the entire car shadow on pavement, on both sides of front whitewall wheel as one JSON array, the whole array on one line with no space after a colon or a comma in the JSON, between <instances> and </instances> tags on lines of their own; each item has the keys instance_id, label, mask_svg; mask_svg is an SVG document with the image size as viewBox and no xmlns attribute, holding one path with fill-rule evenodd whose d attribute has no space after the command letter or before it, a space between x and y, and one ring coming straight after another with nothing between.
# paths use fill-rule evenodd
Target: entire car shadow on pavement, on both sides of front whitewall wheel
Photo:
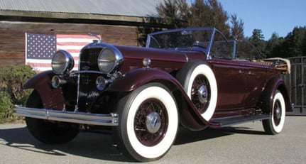
<instances>
[{"instance_id":1,"label":"entire car shadow on pavement, on both sides of front whitewall wheel","mask_svg":"<svg viewBox=\"0 0 306 164\"><path fill-rule=\"evenodd\" d=\"M233 135L234 133L255 133L259 131L239 127L228 127L224 129L205 129L202 131L188 131L180 127L174 145L182 145L211 138ZM48 145L37 141L26 127L12 129L0 129L0 145L18 148L24 151L43 153L48 155L80 155L86 158L101 160L133 162L126 158L114 145L109 133L85 133L81 132L69 143L59 145Z\"/></svg>"}]
</instances>

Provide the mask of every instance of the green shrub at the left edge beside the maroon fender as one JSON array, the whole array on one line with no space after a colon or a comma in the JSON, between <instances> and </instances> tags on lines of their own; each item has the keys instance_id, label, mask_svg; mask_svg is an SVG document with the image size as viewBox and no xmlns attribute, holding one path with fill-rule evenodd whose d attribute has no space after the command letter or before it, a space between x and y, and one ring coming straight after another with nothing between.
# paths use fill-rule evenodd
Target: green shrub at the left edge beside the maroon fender
<instances>
[{"instance_id":1,"label":"green shrub at the left edge beside the maroon fender","mask_svg":"<svg viewBox=\"0 0 306 164\"><path fill-rule=\"evenodd\" d=\"M31 90L23 84L36 74L28 65L0 66L0 122L16 119L12 116L13 104L26 104Z\"/></svg>"}]
</instances>

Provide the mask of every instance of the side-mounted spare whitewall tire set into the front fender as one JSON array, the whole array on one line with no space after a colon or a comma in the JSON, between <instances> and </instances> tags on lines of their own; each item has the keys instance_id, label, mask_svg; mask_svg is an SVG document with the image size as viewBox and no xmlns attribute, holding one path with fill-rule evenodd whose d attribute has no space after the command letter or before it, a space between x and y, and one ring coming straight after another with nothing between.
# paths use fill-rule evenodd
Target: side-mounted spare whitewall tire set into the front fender
<instances>
[{"instance_id":1,"label":"side-mounted spare whitewall tire set into the front fender","mask_svg":"<svg viewBox=\"0 0 306 164\"><path fill-rule=\"evenodd\" d=\"M217 82L214 72L202 60L186 62L177 72L177 80L200 112L209 121L214 115L217 104Z\"/></svg>"}]
</instances>

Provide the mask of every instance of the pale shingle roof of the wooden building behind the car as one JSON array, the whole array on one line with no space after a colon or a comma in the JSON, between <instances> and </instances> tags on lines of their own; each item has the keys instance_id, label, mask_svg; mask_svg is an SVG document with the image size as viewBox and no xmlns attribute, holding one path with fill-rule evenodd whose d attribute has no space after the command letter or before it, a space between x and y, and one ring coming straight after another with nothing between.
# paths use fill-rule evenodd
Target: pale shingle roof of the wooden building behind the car
<instances>
[{"instance_id":1,"label":"pale shingle roof of the wooden building behind the car","mask_svg":"<svg viewBox=\"0 0 306 164\"><path fill-rule=\"evenodd\" d=\"M163 0L0 0L0 10L90 13L114 16L158 16Z\"/></svg>"}]
</instances>

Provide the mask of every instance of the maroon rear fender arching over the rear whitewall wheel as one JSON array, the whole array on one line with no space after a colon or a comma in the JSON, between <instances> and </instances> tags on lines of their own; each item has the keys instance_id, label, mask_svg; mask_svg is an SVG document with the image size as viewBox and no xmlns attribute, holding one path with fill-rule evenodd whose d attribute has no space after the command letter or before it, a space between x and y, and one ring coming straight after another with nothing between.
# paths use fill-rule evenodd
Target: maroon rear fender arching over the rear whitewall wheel
<instances>
[{"instance_id":1,"label":"maroon rear fender arching over the rear whitewall wheel","mask_svg":"<svg viewBox=\"0 0 306 164\"><path fill-rule=\"evenodd\" d=\"M276 90L279 90L283 94L286 111L292 111L288 89L285 86L283 79L280 77L273 77L268 81L265 90L261 94L261 99L258 104L259 108L262 109L264 113L271 114L273 108L273 96Z\"/></svg>"}]
</instances>

